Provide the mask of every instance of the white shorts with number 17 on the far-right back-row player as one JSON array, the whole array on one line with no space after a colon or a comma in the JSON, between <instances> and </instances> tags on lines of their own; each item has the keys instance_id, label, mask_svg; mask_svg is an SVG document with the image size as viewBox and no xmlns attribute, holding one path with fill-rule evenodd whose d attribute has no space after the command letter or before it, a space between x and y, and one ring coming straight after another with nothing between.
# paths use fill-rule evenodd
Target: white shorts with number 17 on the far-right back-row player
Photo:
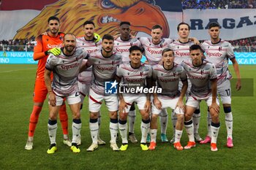
<instances>
[{"instance_id":1,"label":"white shorts with number 17 on the far-right back-row player","mask_svg":"<svg viewBox=\"0 0 256 170\"><path fill-rule=\"evenodd\" d=\"M231 104L231 85L230 80L225 80L217 86L217 92L222 100L222 104Z\"/></svg>"}]
</instances>

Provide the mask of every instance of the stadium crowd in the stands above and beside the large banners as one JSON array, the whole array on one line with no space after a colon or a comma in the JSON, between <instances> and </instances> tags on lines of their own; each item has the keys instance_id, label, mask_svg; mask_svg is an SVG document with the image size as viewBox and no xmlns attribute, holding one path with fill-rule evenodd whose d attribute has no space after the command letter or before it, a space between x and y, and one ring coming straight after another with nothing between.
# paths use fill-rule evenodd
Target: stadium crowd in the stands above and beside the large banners
<instances>
[{"instance_id":1,"label":"stadium crowd in the stands above and beside the large banners","mask_svg":"<svg viewBox=\"0 0 256 170\"><path fill-rule=\"evenodd\" d=\"M256 0L182 0L181 4L183 9L256 8ZM33 51L33 42L34 39L1 40L0 51ZM236 52L256 52L256 36L229 42Z\"/></svg>"}]
</instances>

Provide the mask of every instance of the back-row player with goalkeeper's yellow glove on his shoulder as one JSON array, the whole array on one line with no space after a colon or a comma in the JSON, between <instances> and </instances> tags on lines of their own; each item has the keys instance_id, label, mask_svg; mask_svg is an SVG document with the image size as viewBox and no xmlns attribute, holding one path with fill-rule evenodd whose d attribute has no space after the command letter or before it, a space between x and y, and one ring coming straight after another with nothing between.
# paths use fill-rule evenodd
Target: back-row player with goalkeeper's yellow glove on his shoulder
<instances>
[{"instance_id":1,"label":"back-row player with goalkeeper's yellow glove on his shoulder","mask_svg":"<svg viewBox=\"0 0 256 170\"><path fill-rule=\"evenodd\" d=\"M102 41L98 34L94 33L94 22L90 20L86 20L86 22L83 23L83 31L84 36L78 36L77 37L77 47L82 47L84 50L87 51L87 53L95 53L102 47ZM88 69L86 69L84 72L81 72L78 74L78 88L81 98L81 109L83 108L83 100L86 96L89 96L89 89L91 86L91 73L92 72L92 66ZM101 123L101 115L99 112L98 116L98 123L100 126ZM78 137L78 145L81 144L81 136ZM99 137L98 132L98 144L106 144L102 139Z\"/></svg>"}]
</instances>

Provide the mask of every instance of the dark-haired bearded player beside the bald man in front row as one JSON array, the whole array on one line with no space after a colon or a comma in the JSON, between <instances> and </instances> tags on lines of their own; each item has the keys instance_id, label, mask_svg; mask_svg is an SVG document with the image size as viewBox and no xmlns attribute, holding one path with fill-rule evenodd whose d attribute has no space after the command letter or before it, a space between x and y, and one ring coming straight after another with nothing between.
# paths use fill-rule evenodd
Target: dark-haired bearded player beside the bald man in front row
<instances>
[{"instance_id":1,"label":"dark-haired bearded player beside the bald man in front row","mask_svg":"<svg viewBox=\"0 0 256 170\"><path fill-rule=\"evenodd\" d=\"M113 53L113 36L105 34L102 37L102 50L91 53L86 67L92 66L94 80L89 91L90 131L92 144L87 151L94 151L98 147L97 136L99 131L98 113L102 101L105 101L110 116L110 147L119 150L116 145L116 134L118 133L118 98L116 94L105 93L105 82L115 79L116 66L121 63L121 55Z\"/></svg>"}]
</instances>

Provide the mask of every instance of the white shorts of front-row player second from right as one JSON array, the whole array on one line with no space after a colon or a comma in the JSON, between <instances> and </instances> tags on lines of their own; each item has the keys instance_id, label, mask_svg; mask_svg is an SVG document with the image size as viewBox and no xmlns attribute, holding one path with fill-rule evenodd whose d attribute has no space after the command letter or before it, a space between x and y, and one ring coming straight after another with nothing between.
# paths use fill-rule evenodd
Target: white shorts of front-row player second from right
<instances>
[{"instance_id":1,"label":"white shorts of front-row player second from right","mask_svg":"<svg viewBox=\"0 0 256 170\"><path fill-rule=\"evenodd\" d=\"M162 103L162 109L167 109L168 107L170 107L170 109L174 109L174 112L176 114L183 114L184 115L184 111L179 108L176 107L177 103L178 103L178 98L161 98L158 97L159 101L161 101ZM152 104L152 114L154 115L159 115L160 112L162 112L162 109L157 109L157 107L154 105L154 102Z\"/></svg>"}]
</instances>

